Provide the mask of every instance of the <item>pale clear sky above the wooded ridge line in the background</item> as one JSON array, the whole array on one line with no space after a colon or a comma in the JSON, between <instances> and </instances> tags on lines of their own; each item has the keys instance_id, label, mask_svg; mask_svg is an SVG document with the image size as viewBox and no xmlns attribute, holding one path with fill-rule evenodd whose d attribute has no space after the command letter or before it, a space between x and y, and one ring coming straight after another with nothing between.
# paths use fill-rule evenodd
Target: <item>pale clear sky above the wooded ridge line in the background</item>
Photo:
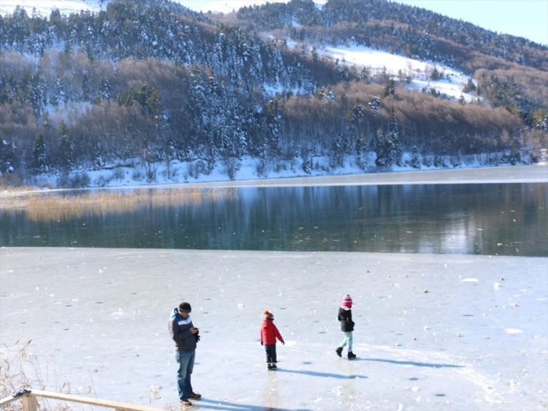
<instances>
[{"instance_id":1,"label":"pale clear sky above the wooded ridge line in the background","mask_svg":"<svg viewBox=\"0 0 548 411\"><path fill-rule=\"evenodd\" d=\"M266 0L177 0L196 11L232 11ZM272 1L271 1L272 2ZM325 3L325 0L317 0ZM397 0L548 46L548 0Z\"/></svg>"}]
</instances>

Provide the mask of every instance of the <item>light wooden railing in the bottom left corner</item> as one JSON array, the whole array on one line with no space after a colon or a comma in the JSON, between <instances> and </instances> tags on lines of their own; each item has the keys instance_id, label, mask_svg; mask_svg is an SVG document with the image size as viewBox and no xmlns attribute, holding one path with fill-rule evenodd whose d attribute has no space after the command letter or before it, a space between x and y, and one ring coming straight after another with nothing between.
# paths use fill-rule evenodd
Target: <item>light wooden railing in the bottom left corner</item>
<instances>
[{"instance_id":1,"label":"light wooden railing in the bottom left corner","mask_svg":"<svg viewBox=\"0 0 548 411\"><path fill-rule=\"evenodd\" d=\"M80 404L95 405L98 407L113 408L118 411L162 411L158 408L143 407L142 405L130 404L127 402L117 402L108 400L99 400L98 398L81 397L80 395L52 393L51 391L41 390L22 390L19 393L0 400L0 407L4 408L11 402L21 400L23 402L23 411L38 411L37 398L51 398L52 400L80 402Z\"/></svg>"}]
</instances>

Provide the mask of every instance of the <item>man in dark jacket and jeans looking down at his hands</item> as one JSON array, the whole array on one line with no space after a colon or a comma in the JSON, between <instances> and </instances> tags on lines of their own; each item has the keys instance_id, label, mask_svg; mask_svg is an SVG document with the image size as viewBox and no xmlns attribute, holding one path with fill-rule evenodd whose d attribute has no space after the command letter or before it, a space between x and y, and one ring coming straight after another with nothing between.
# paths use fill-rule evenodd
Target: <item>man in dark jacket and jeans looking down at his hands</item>
<instances>
[{"instance_id":1,"label":"man in dark jacket and jeans looking down at his hands","mask_svg":"<svg viewBox=\"0 0 548 411\"><path fill-rule=\"evenodd\" d=\"M194 393L190 382L192 369L194 368L194 356L196 351L196 342L199 341L198 329L192 324L190 312L192 308L189 303L181 302L179 308L172 311L169 319L169 333L172 334L173 341L177 348L176 361L179 364L177 370L177 389L179 390L179 399L181 405L190 406L192 402L189 398L199 400L201 395Z\"/></svg>"}]
</instances>

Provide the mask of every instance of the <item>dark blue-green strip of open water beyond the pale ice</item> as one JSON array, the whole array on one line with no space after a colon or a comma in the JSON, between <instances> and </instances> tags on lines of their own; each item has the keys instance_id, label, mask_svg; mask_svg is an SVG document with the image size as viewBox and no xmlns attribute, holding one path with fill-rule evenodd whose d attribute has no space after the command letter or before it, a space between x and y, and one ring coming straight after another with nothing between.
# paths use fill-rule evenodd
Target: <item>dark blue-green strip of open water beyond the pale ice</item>
<instances>
[{"instance_id":1,"label":"dark blue-green strip of open water beyond the pale ice","mask_svg":"<svg viewBox=\"0 0 548 411\"><path fill-rule=\"evenodd\" d=\"M0 246L548 256L545 183L184 193L126 189L109 203L112 191L93 191L81 208L0 210ZM62 196L77 204L82 192Z\"/></svg>"}]
</instances>

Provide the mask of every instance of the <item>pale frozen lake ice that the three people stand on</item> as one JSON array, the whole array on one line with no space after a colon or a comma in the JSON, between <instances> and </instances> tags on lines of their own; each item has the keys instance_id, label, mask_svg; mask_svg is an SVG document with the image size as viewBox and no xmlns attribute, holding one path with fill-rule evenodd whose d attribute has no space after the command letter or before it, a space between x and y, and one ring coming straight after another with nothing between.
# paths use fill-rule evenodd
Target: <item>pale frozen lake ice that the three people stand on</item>
<instances>
[{"instance_id":1,"label":"pale frozen lake ice that the three people stand on","mask_svg":"<svg viewBox=\"0 0 548 411\"><path fill-rule=\"evenodd\" d=\"M186 299L199 409L548 406L546 258L7 248L0 260L0 356L32 340L23 366L34 380L37 361L48 390L176 407L167 319ZM347 292L353 362L334 353ZM264 309L287 342L277 372L258 341Z\"/></svg>"}]
</instances>

